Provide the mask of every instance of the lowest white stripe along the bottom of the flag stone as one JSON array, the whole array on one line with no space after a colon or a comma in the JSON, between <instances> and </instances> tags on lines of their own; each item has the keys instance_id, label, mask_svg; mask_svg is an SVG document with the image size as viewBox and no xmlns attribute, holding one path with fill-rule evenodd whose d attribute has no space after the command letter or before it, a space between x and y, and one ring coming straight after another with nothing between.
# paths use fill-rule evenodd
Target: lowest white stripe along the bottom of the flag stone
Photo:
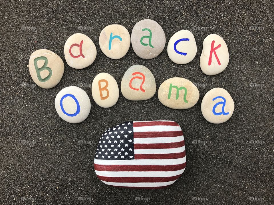
<instances>
[{"instance_id":1,"label":"lowest white stripe along the bottom of the flag stone","mask_svg":"<svg viewBox=\"0 0 274 205\"><path fill-rule=\"evenodd\" d=\"M177 179L176 179L177 180ZM168 185L172 185L174 182L176 182L176 180L174 181L169 181L169 182L137 182L137 183L118 183L118 182L106 182L106 181L102 181L107 185L112 185L112 186L130 186L130 187L158 187L158 186L168 186Z\"/></svg>"}]
</instances>

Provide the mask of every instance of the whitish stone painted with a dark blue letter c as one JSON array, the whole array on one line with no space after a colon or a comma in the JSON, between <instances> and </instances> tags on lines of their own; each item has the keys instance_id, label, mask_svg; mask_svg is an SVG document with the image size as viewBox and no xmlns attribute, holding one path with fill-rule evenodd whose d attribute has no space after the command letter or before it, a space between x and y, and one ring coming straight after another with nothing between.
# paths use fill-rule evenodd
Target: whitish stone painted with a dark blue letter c
<instances>
[{"instance_id":1,"label":"whitish stone painted with a dark blue letter c","mask_svg":"<svg viewBox=\"0 0 274 205\"><path fill-rule=\"evenodd\" d=\"M197 53L195 38L189 30L180 30L168 42L168 57L174 63L186 64L194 59Z\"/></svg>"}]
</instances>

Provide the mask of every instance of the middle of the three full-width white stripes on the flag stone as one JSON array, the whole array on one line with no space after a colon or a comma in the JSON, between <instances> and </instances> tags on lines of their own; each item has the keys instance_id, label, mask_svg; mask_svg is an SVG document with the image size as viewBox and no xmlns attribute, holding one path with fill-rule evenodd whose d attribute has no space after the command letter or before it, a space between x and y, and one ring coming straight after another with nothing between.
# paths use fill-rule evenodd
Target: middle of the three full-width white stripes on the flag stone
<instances>
[{"instance_id":1,"label":"middle of the three full-width white stripes on the flag stone","mask_svg":"<svg viewBox=\"0 0 274 205\"><path fill-rule=\"evenodd\" d=\"M173 177L180 175L184 169L176 171L97 171L96 175L102 177Z\"/></svg>"}]
</instances>

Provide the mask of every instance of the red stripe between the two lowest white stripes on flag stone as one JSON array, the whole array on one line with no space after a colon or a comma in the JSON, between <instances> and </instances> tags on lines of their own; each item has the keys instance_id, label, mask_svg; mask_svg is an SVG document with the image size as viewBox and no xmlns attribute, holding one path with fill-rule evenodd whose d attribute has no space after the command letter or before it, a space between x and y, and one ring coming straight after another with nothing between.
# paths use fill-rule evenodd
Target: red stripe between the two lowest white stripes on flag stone
<instances>
[{"instance_id":1,"label":"red stripe between the two lowest white stripes on flag stone","mask_svg":"<svg viewBox=\"0 0 274 205\"><path fill-rule=\"evenodd\" d=\"M181 175L173 177L103 177L97 175L97 177L106 182L116 183L138 183L138 182L169 182L178 179Z\"/></svg>"}]
</instances>

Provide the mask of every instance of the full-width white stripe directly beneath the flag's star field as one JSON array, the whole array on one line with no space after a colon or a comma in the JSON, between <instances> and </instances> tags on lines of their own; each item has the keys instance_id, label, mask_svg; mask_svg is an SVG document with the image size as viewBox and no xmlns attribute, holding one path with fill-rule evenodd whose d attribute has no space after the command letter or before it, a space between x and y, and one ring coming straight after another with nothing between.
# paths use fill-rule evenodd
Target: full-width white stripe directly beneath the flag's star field
<instances>
[{"instance_id":1,"label":"full-width white stripe directly beneath the flag's star field","mask_svg":"<svg viewBox=\"0 0 274 205\"><path fill-rule=\"evenodd\" d=\"M94 159L94 164L98 164L98 165L177 165L185 162L186 162L186 156L178 159L123 159L123 160Z\"/></svg>"}]
</instances>

